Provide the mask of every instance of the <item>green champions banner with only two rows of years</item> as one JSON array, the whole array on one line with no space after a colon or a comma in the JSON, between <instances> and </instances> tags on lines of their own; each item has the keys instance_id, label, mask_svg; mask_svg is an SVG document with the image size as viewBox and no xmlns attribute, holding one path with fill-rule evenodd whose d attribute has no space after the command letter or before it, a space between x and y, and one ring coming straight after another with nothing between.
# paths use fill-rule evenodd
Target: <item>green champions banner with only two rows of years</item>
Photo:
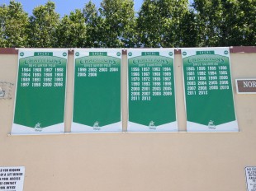
<instances>
[{"instance_id":1,"label":"green champions banner with only two rows of years","mask_svg":"<svg viewBox=\"0 0 256 191\"><path fill-rule=\"evenodd\" d=\"M74 50L73 133L120 132L121 49Z\"/></svg>"}]
</instances>

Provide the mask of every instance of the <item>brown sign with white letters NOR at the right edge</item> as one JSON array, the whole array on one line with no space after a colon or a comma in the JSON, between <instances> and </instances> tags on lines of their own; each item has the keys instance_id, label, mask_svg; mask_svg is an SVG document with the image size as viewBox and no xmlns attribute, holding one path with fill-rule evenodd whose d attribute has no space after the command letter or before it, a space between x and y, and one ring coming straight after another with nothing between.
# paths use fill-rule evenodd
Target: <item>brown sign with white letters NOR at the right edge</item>
<instances>
[{"instance_id":1,"label":"brown sign with white letters NOR at the right edge","mask_svg":"<svg viewBox=\"0 0 256 191\"><path fill-rule=\"evenodd\" d=\"M256 79L236 79L235 85L238 94L256 94Z\"/></svg>"}]
</instances>

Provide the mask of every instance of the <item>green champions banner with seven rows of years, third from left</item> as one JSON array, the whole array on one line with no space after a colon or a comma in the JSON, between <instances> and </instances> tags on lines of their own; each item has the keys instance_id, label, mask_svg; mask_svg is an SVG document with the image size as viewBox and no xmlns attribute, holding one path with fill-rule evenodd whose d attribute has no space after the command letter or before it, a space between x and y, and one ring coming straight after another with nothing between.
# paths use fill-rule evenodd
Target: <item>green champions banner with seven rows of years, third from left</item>
<instances>
[{"instance_id":1,"label":"green champions banner with seven rows of years, third from left","mask_svg":"<svg viewBox=\"0 0 256 191\"><path fill-rule=\"evenodd\" d=\"M178 131L173 63L173 49L128 49L127 131Z\"/></svg>"}]
</instances>

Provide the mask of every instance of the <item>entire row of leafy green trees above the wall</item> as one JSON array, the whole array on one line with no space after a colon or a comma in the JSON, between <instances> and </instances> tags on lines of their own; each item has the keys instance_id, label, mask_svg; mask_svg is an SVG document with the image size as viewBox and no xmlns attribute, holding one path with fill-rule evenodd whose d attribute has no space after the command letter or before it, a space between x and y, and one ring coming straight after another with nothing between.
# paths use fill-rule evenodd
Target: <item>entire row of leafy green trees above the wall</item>
<instances>
[{"instance_id":1,"label":"entire row of leafy green trees above the wall","mask_svg":"<svg viewBox=\"0 0 256 191\"><path fill-rule=\"evenodd\" d=\"M55 2L0 5L0 47L195 47L256 45L255 0L92 1L59 18Z\"/></svg>"}]
</instances>

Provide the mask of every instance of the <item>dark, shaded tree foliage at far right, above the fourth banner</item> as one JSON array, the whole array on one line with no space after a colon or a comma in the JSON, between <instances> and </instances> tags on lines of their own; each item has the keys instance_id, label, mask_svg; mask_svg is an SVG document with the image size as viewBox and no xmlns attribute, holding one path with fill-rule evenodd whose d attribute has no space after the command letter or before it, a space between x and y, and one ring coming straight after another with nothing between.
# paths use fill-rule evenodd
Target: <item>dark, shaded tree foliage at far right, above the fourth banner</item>
<instances>
[{"instance_id":1,"label":"dark, shaded tree foliage at far right, above the fourth banner","mask_svg":"<svg viewBox=\"0 0 256 191\"><path fill-rule=\"evenodd\" d=\"M255 45L254 0L195 0L200 46Z\"/></svg>"}]
</instances>

